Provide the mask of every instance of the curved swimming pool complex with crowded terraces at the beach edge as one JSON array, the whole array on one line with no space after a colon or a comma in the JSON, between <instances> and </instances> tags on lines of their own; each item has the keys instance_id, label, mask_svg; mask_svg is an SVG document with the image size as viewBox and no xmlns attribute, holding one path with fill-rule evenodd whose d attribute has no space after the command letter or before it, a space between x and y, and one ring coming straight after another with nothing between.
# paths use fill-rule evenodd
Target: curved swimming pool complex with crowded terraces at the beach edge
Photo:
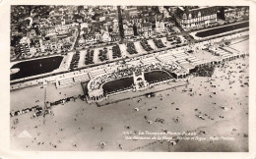
<instances>
[{"instance_id":1,"label":"curved swimming pool complex with crowded terraces at the beach edge","mask_svg":"<svg viewBox=\"0 0 256 159\"><path fill-rule=\"evenodd\" d=\"M83 85L87 102L98 102L127 91L142 91L171 80L184 79L189 74L174 63L160 63L155 58L142 61L143 66L119 65L108 71L99 68L90 72L90 81Z\"/></svg>"}]
</instances>

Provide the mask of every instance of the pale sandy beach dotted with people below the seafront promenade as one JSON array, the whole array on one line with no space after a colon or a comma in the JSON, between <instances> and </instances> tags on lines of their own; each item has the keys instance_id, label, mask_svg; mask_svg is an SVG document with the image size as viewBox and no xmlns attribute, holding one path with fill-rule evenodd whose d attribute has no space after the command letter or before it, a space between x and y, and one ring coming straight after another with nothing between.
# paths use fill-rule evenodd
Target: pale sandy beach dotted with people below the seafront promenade
<instances>
[{"instance_id":1,"label":"pale sandy beach dotted with people below the seafront promenade","mask_svg":"<svg viewBox=\"0 0 256 159\"><path fill-rule=\"evenodd\" d=\"M248 40L230 46L246 52ZM248 72L249 58L245 57L217 67L212 78L196 77L190 79L187 86L157 92L155 97L132 97L102 107L77 99L52 107L54 116L47 115L45 119L32 119L32 112L12 117L11 148L49 151L246 152ZM10 110L42 105L44 89L40 86L11 91ZM57 89L51 83L46 91L46 100L49 102L83 94L81 84ZM111 96L111 100L114 97ZM19 120L18 124L14 122L16 119ZM170 140L176 144L166 141L168 139L164 139L163 135L156 135L157 139L134 139L134 136L154 136L140 132L177 132L167 135L174 137ZM194 132L194 135L178 135L178 132ZM132 139L128 139L128 136ZM158 139L158 136L161 138ZM178 136L184 138L177 139ZM193 140L191 136L206 139Z\"/></svg>"}]
</instances>

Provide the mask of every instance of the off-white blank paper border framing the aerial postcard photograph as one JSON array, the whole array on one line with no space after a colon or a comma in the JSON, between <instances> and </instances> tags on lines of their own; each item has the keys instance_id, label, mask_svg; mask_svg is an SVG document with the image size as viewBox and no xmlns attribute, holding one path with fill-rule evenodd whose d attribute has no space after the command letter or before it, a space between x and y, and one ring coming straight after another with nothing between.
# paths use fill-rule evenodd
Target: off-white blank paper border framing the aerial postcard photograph
<instances>
[{"instance_id":1,"label":"off-white blank paper border framing the aerial postcard photograph","mask_svg":"<svg viewBox=\"0 0 256 159\"><path fill-rule=\"evenodd\" d=\"M182 152L182 153L161 153L161 152L48 152L48 151L11 151L9 149L10 138L10 5L249 5L250 6L250 87L249 87L249 153L208 153L208 152ZM252 0L0 0L0 158L190 158L190 159L206 159L206 158L239 158L239 159L253 159L256 158L256 104L255 104L255 10L256 3Z\"/></svg>"}]
</instances>

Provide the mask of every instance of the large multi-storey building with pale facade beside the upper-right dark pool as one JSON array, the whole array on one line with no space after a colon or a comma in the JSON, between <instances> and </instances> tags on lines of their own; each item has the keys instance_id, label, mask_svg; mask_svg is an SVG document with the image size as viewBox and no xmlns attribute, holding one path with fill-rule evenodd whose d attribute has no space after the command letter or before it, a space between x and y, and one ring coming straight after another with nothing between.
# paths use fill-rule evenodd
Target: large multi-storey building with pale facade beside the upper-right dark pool
<instances>
[{"instance_id":1,"label":"large multi-storey building with pale facade beside the upper-right dark pool","mask_svg":"<svg viewBox=\"0 0 256 159\"><path fill-rule=\"evenodd\" d=\"M183 29L210 27L217 24L218 7L178 7L176 22Z\"/></svg>"}]
</instances>

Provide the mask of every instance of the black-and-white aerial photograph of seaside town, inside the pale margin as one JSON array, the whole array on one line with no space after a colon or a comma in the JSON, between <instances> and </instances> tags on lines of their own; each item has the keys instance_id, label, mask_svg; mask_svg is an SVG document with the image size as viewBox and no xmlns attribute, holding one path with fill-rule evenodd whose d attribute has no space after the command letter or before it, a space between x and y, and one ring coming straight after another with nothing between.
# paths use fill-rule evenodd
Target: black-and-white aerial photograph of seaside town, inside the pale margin
<instances>
[{"instance_id":1,"label":"black-and-white aerial photograph of seaside town, inside the pale margin","mask_svg":"<svg viewBox=\"0 0 256 159\"><path fill-rule=\"evenodd\" d=\"M10 148L248 152L249 10L11 5Z\"/></svg>"}]
</instances>

